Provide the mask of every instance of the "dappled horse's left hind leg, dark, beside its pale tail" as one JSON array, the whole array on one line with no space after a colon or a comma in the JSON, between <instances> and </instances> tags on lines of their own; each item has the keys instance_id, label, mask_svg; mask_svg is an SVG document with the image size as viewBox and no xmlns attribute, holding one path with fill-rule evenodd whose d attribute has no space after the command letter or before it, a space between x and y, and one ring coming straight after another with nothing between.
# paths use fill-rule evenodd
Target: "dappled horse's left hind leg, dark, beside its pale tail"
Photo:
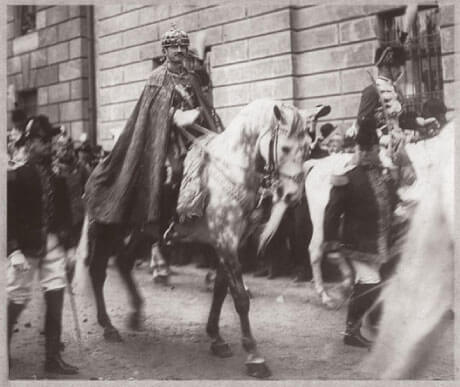
<instances>
[{"instance_id":1,"label":"dappled horse's left hind leg, dark, beside its pale tail","mask_svg":"<svg viewBox=\"0 0 460 387\"><path fill-rule=\"evenodd\" d=\"M96 222L89 226L89 274L96 298L97 321L104 328L104 338L108 341L119 342L121 341L120 334L110 321L104 300L107 262L111 255L111 251L108 248L111 243L104 238L104 235L110 235L110 233L107 233L106 228L107 226Z\"/></svg>"}]
</instances>

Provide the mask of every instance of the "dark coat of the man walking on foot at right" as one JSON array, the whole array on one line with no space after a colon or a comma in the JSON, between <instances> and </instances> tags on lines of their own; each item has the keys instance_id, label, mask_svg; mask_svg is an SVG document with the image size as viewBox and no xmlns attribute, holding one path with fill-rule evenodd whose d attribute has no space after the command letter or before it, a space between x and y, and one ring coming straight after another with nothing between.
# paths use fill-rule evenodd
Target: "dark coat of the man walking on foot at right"
<instances>
[{"instance_id":1,"label":"dark coat of the man walking on foot at right","mask_svg":"<svg viewBox=\"0 0 460 387\"><path fill-rule=\"evenodd\" d=\"M335 176L324 215L324 252L386 262L396 203L394 181L380 165L360 163Z\"/></svg>"}]
</instances>

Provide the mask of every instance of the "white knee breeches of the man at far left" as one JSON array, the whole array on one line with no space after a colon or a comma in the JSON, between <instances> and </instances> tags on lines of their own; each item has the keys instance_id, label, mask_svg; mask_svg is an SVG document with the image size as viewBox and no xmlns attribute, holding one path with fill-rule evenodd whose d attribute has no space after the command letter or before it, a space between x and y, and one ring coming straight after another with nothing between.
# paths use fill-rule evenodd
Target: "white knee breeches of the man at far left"
<instances>
[{"instance_id":1,"label":"white knee breeches of the man at far left","mask_svg":"<svg viewBox=\"0 0 460 387\"><path fill-rule=\"evenodd\" d=\"M11 262L7 269L7 297L15 304L26 304L32 298L32 283L38 272L40 285L44 292L62 289L65 280L65 251L59 246L56 235L48 234L45 257L26 257L30 265L27 271L16 270Z\"/></svg>"}]
</instances>

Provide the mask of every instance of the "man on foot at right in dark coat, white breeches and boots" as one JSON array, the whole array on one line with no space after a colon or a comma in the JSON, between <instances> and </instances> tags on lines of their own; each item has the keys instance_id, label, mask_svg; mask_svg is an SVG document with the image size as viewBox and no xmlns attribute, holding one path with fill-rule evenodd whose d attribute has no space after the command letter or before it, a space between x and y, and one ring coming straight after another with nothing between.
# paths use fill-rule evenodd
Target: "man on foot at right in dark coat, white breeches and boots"
<instances>
[{"instance_id":1,"label":"man on foot at right in dark coat, white breeches and boots","mask_svg":"<svg viewBox=\"0 0 460 387\"><path fill-rule=\"evenodd\" d=\"M379 159L375 128L362 125L356 139L355 163L332 176L324 215L323 251L330 260L347 259L355 271L348 304L344 343L366 347L361 320L378 295L380 266L389 259L396 184ZM343 223L342 223L343 222Z\"/></svg>"}]
</instances>

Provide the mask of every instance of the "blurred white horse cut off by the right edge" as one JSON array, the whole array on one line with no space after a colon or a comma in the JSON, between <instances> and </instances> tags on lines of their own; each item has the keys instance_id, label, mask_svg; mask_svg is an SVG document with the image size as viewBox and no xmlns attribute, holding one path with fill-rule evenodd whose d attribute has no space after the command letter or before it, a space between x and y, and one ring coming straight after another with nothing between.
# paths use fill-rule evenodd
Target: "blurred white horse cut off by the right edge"
<instances>
[{"instance_id":1,"label":"blurred white horse cut off by the right edge","mask_svg":"<svg viewBox=\"0 0 460 387\"><path fill-rule=\"evenodd\" d=\"M369 365L383 379L421 375L453 323L455 123L438 137L408 146L419 181L417 205L396 274L383 289L379 334ZM414 196L415 197L415 196Z\"/></svg>"}]
</instances>

